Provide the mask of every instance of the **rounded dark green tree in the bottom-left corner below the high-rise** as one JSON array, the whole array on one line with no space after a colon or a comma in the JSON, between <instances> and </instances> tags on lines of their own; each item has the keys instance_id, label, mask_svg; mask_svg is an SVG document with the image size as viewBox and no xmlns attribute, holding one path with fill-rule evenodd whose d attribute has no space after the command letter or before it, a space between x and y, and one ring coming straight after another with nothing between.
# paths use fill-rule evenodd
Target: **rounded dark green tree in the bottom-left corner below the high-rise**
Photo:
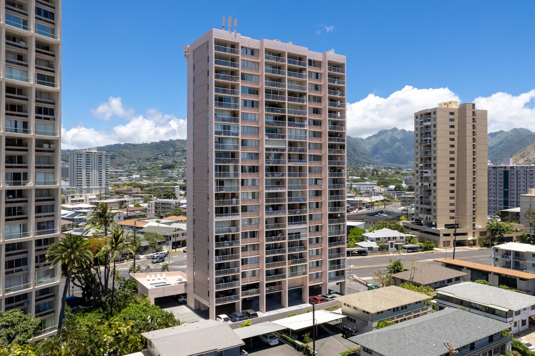
<instances>
[{"instance_id":1,"label":"rounded dark green tree in the bottom-left corner below the high-rise","mask_svg":"<svg viewBox=\"0 0 535 356\"><path fill-rule=\"evenodd\" d=\"M41 318L35 318L20 309L0 311L0 343L26 344L41 331Z\"/></svg>"}]
</instances>

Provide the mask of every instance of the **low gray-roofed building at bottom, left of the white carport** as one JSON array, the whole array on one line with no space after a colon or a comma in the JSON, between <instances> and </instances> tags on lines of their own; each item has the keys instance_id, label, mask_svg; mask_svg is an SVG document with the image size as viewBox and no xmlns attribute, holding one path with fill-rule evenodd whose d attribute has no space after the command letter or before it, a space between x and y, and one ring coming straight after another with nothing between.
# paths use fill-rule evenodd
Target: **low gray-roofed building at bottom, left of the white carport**
<instances>
[{"instance_id":1,"label":"low gray-roofed building at bottom, left of the white carport","mask_svg":"<svg viewBox=\"0 0 535 356\"><path fill-rule=\"evenodd\" d=\"M226 323L202 320L143 332L150 356L238 355L241 338Z\"/></svg>"}]
</instances>

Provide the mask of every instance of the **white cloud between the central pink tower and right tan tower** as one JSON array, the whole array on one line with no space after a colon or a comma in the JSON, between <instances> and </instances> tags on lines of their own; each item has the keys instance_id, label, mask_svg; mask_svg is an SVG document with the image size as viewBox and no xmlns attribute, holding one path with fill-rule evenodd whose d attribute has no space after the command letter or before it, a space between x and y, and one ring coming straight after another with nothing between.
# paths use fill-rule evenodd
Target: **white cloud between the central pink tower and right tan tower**
<instances>
[{"instance_id":1,"label":"white cloud between the central pink tower and right tan tower","mask_svg":"<svg viewBox=\"0 0 535 356\"><path fill-rule=\"evenodd\" d=\"M383 129L397 127L414 130L412 114L438 103L460 101L448 88L418 89L406 86L387 98L370 94L347 106L347 133L354 137L368 137Z\"/></svg>"}]
</instances>

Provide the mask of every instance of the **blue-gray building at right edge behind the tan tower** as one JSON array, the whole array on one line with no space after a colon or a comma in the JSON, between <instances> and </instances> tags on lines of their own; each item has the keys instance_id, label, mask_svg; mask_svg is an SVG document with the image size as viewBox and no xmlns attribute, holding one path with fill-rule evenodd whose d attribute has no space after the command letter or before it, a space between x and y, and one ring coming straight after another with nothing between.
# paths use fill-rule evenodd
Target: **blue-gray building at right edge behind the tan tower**
<instances>
[{"instance_id":1,"label":"blue-gray building at right edge behind the tan tower","mask_svg":"<svg viewBox=\"0 0 535 356\"><path fill-rule=\"evenodd\" d=\"M501 166L488 166L487 172L488 215L519 207L520 196L535 188L535 166L515 166L508 158Z\"/></svg>"}]
</instances>

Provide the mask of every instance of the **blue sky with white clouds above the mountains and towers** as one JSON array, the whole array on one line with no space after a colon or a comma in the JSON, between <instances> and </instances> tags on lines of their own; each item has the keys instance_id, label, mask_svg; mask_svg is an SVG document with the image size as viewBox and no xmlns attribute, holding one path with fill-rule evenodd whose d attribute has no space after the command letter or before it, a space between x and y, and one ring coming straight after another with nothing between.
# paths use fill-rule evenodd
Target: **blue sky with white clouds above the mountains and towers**
<instances>
[{"instance_id":1,"label":"blue sky with white clouds above the mountains and towers","mask_svg":"<svg viewBox=\"0 0 535 356\"><path fill-rule=\"evenodd\" d=\"M489 131L535 131L535 2L155 3L63 2L64 148L185 138L182 45L223 15L245 36L346 55L351 136L411 129L450 99L487 109Z\"/></svg>"}]
</instances>

